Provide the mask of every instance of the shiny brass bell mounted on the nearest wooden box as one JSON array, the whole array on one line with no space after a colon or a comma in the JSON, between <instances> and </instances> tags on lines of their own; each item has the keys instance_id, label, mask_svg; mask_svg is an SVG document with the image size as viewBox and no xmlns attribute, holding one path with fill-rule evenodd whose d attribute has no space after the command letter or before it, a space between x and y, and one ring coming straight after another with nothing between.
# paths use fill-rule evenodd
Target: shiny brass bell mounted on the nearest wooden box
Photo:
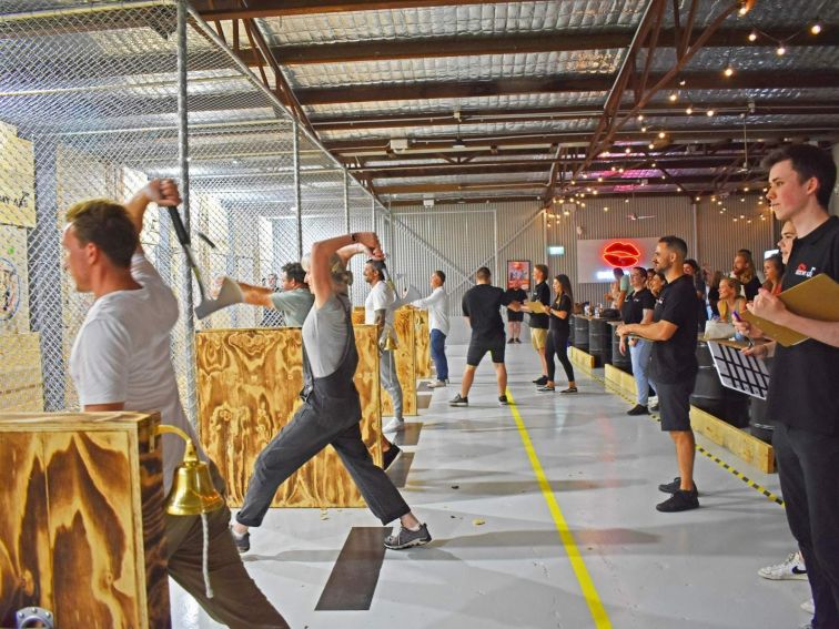
<instances>
[{"instance_id":1,"label":"shiny brass bell mounted on the nearest wooden box","mask_svg":"<svg viewBox=\"0 0 839 629\"><path fill-rule=\"evenodd\" d=\"M165 500L165 510L172 516L200 516L224 506L224 498L215 489L210 467L199 459L190 436L174 426L158 426L158 434L178 435L186 442L183 461L175 469L172 489Z\"/></svg>"}]
</instances>

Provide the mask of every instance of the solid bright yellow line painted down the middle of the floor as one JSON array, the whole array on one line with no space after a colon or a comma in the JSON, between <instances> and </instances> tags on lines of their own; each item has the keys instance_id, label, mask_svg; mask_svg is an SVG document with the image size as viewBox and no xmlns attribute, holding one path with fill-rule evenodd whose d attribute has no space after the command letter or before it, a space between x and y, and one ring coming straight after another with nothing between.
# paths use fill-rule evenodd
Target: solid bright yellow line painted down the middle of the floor
<instances>
[{"instance_id":1,"label":"solid bright yellow line painted down the middle of the floor","mask_svg":"<svg viewBox=\"0 0 839 629\"><path fill-rule=\"evenodd\" d=\"M513 418L516 420L516 426L518 426L518 434L522 437L522 443L524 444L525 452L527 452L527 458L530 459L533 471L536 475L536 479L539 481L542 495L544 496L545 501L548 505L550 515L554 517L554 524L556 525L556 530L559 534L559 540L563 542L565 552L568 555L572 568L574 569L574 575L577 577L577 582L583 590L583 597L586 599L588 609L592 612L592 618L595 621L595 627L597 629L610 629L611 621L606 613L606 609L603 607L603 602L600 602L600 597L597 594L597 589L595 588L594 582L592 581L592 576L588 574L585 561L583 561L583 557L579 554L577 544L574 541L574 536L568 529L568 524L565 521L565 516L563 516L559 504L556 501L554 490L550 488L550 484L545 476L545 470L542 467L539 457L536 456L536 450L533 447L530 435L527 433L527 427L522 420L522 416L518 414L518 407L516 407L516 403L513 399L513 395L509 393L509 390L507 390L507 399L509 400L509 409L513 413Z\"/></svg>"}]
</instances>

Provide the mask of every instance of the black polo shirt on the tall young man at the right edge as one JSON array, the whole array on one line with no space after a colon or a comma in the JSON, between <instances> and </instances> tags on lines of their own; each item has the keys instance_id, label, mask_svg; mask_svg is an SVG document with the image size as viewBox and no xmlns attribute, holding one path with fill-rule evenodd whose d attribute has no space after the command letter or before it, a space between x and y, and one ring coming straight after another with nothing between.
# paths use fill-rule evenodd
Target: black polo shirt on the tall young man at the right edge
<instances>
[{"instance_id":1,"label":"black polo shirt on the tall young man at the right edge","mask_svg":"<svg viewBox=\"0 0 839 629\"><path fill-rule=\"evenodd\" d=\"M792 241L782 288L827 273L839 281L839 217ZM775 349L767 413L772 422L825 435L839 434L839 348L811 338Z\"/></svg>"}]
</instances>

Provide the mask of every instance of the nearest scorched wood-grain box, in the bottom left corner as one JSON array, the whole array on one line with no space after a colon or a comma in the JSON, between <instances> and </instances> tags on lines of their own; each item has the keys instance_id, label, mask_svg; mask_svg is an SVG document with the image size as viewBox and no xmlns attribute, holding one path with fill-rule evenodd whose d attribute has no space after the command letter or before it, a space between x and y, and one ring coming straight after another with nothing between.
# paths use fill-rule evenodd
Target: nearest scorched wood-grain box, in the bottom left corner
<instances>
[{"instance_id":1,"label":"nearest scorched wood-grain box, in the bottom left corner","mask_svg":"<svg viewBox=\"0 0 839 629\"><path fill-rule=\"evenodd\" d=\"M0 625L36 605L58 627L170 626L156 422L0 415Z\"/></svg>"}]
</instances>

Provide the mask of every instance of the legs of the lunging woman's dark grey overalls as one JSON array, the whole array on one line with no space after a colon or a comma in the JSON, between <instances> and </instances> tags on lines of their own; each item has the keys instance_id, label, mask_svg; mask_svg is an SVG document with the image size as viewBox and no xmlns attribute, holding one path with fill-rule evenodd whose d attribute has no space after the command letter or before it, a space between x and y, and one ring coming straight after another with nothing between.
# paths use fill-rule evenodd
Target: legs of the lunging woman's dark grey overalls
<instances>
[{"instance_id":1,"label":"legs of the lunging woman's dark grey overalls","mask_svg":"<svg viewBox=\"0 0 839 629\"><path fill-rule=\"evenodd\" d=\"M346 409L343 410L341 414L326 413L309 404L297 409L291 423L256 459L236 521L260 526L277 487L327 445L335 448L367 507L383 525L411 513L384 470L373 464L362 440L358 419L344 418L342 422L342 415L346 417Z\"/></svg>"}]
</instances>

